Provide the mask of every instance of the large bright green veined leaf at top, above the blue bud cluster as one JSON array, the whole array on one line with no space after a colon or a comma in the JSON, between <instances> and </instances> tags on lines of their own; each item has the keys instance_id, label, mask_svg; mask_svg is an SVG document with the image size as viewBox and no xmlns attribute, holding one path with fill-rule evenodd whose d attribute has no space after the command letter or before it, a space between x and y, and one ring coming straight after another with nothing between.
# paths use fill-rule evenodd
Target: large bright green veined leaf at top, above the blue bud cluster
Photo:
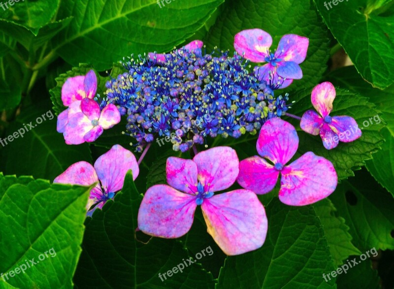
<instances>
[{"instance_id":1,"label":"large bright green veined leaf at top, above the blue bud cluster","mask_svg":"<svg viewBox=\"0 0 394 289\"><path fill-rule=\"evenodd\" d=\"M74 20L53 39L54 51L73 66L88 62L104 70L131 53L171 50L202 27L222 2L173 1L160 8L156 0L63 0L58 18Z\"/></svg>"}]
</instances>

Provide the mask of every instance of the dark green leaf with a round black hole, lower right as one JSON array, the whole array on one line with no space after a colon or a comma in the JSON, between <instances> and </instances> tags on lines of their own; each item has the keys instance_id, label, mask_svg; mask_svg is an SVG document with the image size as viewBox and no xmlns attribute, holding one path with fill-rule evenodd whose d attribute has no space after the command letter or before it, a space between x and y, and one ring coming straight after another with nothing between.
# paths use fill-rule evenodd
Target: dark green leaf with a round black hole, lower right
<instances>
[{"instance_id":1,"label":"dark green leaf with a round black hole, lower right","mask_svg":"<svg viewBox=\"0 0 394 289\"><path fill-rule=\"evenodd\" d=\"M365 252L371 248L394 249L394 199L366 172L342 181L329 197L350 227L353 244Z\"/></svg>"}]
</instances>

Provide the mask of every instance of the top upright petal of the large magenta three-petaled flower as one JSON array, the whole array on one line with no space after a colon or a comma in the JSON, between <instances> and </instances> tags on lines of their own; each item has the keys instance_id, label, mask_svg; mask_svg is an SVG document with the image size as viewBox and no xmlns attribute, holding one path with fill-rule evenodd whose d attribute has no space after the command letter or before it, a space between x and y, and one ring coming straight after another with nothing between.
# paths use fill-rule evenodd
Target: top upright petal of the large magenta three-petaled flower
<instances>
[{"instance_id":1,"label":"top upright petal of the large magenta three-petaled flower","mask_svg":"<svg viewBox=\"0 0 394 289\"><path fill-rule=\"evenodd\" d=\"M267 158L274 164L280 162L285 165L298 148L296 128L280 118L270 119L260 130L256 147L263 158Z\"/></svg>"}]
</instances>

